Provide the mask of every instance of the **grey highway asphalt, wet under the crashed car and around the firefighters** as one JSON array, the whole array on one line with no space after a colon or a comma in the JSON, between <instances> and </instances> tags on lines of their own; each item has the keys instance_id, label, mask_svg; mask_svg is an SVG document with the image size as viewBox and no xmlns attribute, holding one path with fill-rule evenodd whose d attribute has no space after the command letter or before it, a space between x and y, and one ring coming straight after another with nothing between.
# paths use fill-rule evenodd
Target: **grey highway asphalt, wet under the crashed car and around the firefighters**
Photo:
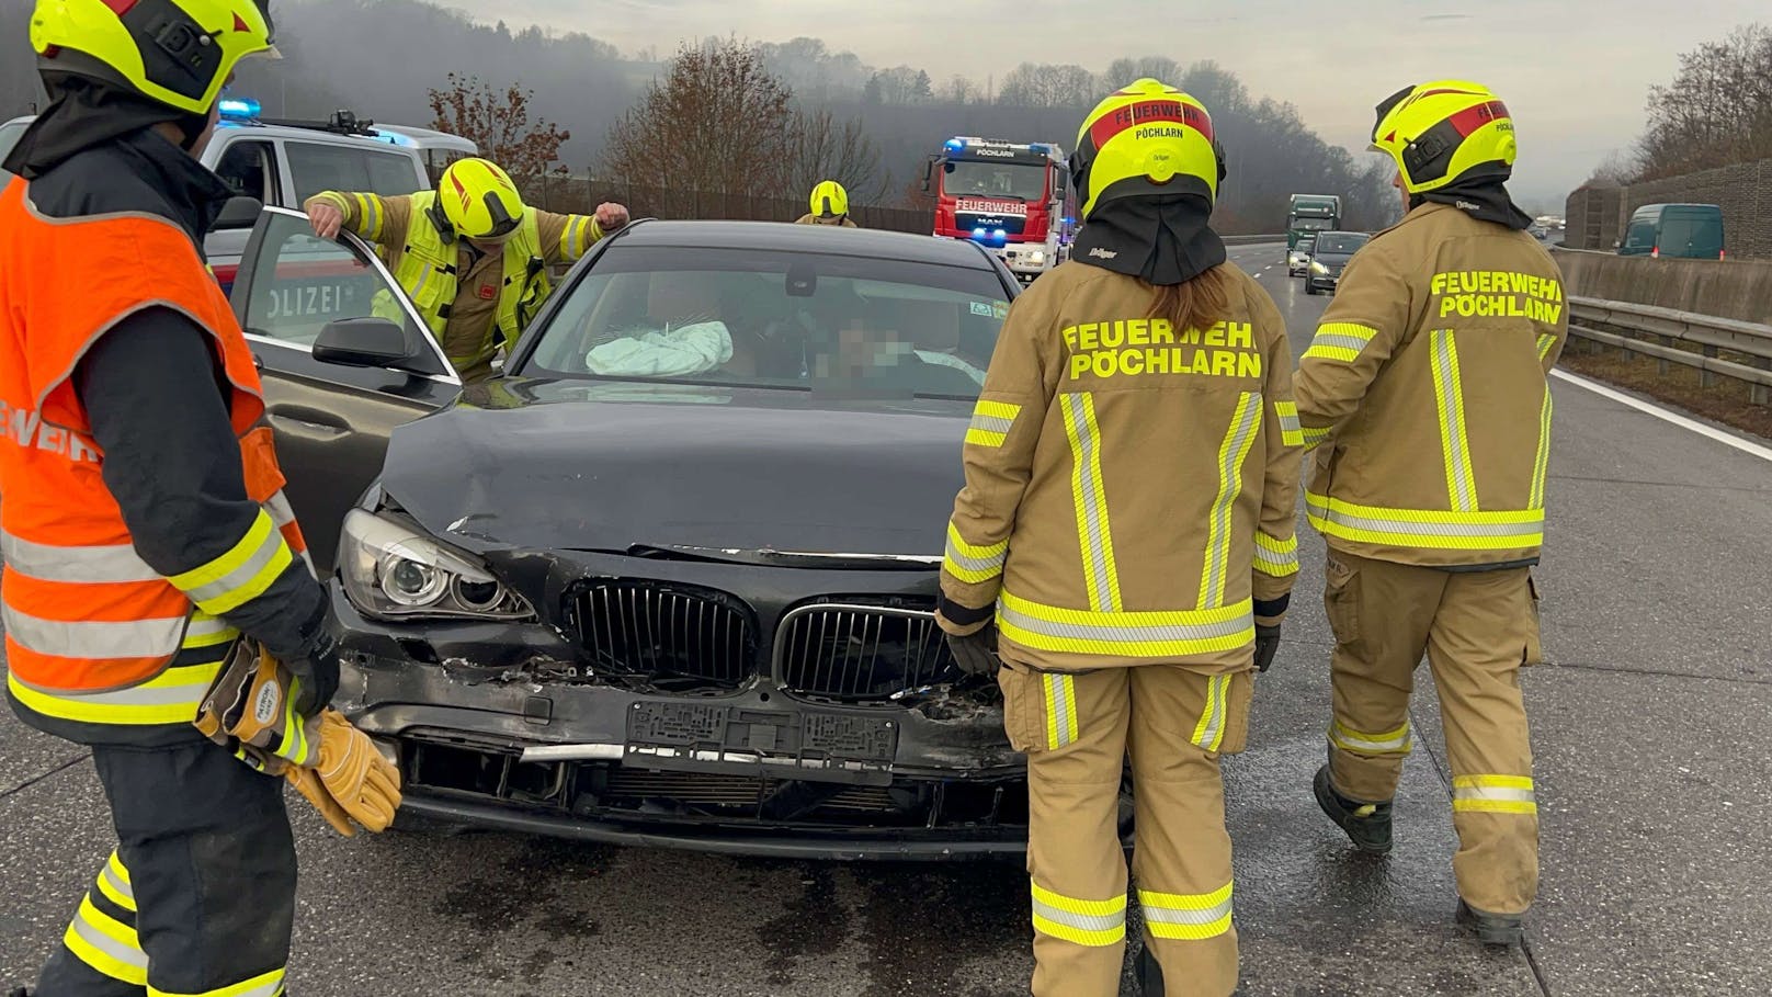
<instances>
[{"instance_id":1,"label":"grey highway asphalt, wet under the crashed car and around the firefighters","mask_svg":"<svg viewBox=\"0 0 1772 997\"><path fill-rule=\"evenodd\" d=\"M1329 298L1276 245L1235 247L1297 349ZM1249 997L1772 993L1772 463L1558 380L1526 676L1543 892L1524 953L1453 930L1449 773L1423 669L1386 860L1347 848L1324 752L1322 541L1251 749L1226 763ZM1015 864L836 866L509 834L330 834L292 798L291 993L1017 997ZM90 763L0 715L0 990L27 983L112 844ZM1132 993L1131 985L1125 993ZM46 995L55 997L55 995Z\"/></svg>"}]
</instances>

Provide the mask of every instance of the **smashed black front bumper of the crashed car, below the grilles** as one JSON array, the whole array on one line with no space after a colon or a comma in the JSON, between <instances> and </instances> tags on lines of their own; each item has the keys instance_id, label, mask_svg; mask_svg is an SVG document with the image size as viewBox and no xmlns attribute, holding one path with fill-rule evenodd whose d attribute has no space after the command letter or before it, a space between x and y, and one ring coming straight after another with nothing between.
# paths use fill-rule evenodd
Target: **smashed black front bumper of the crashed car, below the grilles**
<instances>
[{"instance_id":1,"label":"smashed black front bumper of the crashed car, below the grilles","mask_svg":"<svg viewBox=\"0 0 1772 997\"><path fill-rule=\"evenodd\" d=\"M796 859L1026 850L1026 761L985 688L806 701L767 674L666 694L585 674L535 623L390 626L333 585L337 704L404 779L402 814Z\"/></svg>"}]
</instances>

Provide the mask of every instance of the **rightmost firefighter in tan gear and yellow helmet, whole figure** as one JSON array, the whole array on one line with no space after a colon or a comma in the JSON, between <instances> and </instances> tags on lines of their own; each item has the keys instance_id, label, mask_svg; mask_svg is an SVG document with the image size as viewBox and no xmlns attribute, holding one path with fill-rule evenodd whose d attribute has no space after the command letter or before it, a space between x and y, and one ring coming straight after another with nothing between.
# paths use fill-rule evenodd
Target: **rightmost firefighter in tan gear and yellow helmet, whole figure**
<instances>
[{"instance_id":1,"label":"rightmost firefighter in tan gear and yellow helmet, whole figure","mask_svg":"<svg viewBox=\"0 0 1772 997\"><path fill-rule=\"evenodd\" d=\"M1297 376L1336 635L1315 791L1354 844L1389 852L1425 651L1453 770L1458 919L1513 944L1538 885L1520 667L1540 656L1531 566L1566 302L1508 199L1513 121L1496 94L1405 89L1372 140L1396 160L1409 215L1348 264Z\"/></svg>"}]
</instances>

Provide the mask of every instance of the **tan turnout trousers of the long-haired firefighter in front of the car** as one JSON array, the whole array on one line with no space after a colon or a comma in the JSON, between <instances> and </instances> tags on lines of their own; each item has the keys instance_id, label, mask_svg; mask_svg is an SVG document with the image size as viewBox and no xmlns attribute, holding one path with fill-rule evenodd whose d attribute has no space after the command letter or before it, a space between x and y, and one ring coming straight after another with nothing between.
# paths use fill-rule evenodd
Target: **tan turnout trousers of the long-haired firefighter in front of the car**
<instances>
[{"instance_id":1,"label":"tan turnout trousers of the long-haired firefighter in front of the car","mask_svg":"<svg viewBox=\"0 0 1772 997\"><path fill-rule=\"evenodd\" d=\"M1125 958L1120 777L1132 763L1132 878L1170 997L1237 988L1230 834L1219 756L1244 749L1253 669L1182 665L998 672L1005 727L1028 754L1035 997L1113 997Z\"/></svg>"}]
</instances>

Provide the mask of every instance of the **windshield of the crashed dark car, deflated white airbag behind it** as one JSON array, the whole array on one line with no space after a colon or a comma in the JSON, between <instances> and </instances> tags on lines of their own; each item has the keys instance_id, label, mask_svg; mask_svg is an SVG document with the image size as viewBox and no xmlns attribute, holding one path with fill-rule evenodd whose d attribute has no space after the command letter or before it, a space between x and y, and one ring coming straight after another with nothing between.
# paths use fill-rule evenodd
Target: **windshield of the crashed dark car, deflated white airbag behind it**
<instances>
[{"instance_id":1,"label":"windshield of the crashed dark car, deflated white airbag behind it","mask_svg":"<svg viewBox=\"0 0 1772 997\"><path fill-rule=\"evenodd\" d=\"M523 374L973 399L1008 300L991 270L615 247Z\"/></svg>"}]
</instances>

